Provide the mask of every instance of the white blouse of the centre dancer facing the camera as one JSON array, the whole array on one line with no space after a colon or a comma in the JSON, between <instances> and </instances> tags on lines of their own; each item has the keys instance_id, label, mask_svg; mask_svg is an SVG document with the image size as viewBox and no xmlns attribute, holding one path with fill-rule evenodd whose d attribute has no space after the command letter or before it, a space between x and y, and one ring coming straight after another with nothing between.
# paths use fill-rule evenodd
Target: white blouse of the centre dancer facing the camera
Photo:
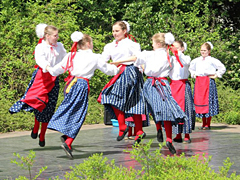
<instances>
[{"instance_id":1,"label":"white blouse of the centre dancer facing the camera","mask_svg":"<svg viewBox=\"0 0 240 180\"><path fill-rule=\"evenodd\" d=\"M102 52L103 59L108 62L110 59L115 62L126 59L141 52L140 44L133 42L132 40L125 38L116 44L116 40L108 43ZM132 62L123 63L125 65L133 64Z\"/></svg>"}]
</instances>

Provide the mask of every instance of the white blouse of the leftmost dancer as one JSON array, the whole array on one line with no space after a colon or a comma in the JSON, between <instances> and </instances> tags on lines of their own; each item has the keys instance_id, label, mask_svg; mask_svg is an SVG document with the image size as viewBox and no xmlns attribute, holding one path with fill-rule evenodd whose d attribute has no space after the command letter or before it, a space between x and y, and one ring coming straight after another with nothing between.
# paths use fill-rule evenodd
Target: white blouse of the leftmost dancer
<instances>
[{"instance_id":1,"label":"white blouse of the leftmost dancer","mask_svg":"<svg viewBox=\"0 0 240 180\"><path fill-rule=\"evenodd\" d=\"M55 66L66 56L67 52L62 43L57 42L56 46L51 46L42 41L35 48L35 60L39 67L42 68L43 72L46 71L47 66Z\"/></svg>"}]
</instances>

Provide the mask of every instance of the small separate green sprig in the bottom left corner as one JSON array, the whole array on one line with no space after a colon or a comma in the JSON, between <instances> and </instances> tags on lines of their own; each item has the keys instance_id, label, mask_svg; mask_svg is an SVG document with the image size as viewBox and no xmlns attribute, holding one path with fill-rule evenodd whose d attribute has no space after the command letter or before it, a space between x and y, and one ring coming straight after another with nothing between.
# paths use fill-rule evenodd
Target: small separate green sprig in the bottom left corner
<instances>
[{"instance_id":1,"label":"small separate green sprig in the bottom left corner","mask_svg":"<svg viewBox=\"0 0 240 180\"><path fill-rule=\"evenodd\" d=\"M18 162L16 161L15 159L12 160L11 162L18 165L21 169L24 169L24 170L27 170L28 173L29 173L29 177L30 177L30 180L34 180L34 179L37 179L41 173L43 171L45 171L47 169L47 166L45 167L42 167L38 174L35 175L34 177L32 177L32 173L31 173L31 168L33 167L33 164L34 164L34 158L36 157L36 153L34 151L30 151L28 156L24 157L24 156L20 156L18 153L13 153L14 156L16 156L18 159L20 159L21 161ZM18 178L16 178L18 180L24 180L24 179L28 179L26 178L25 176L19 176Z\"/></svg>"}]
</instances>

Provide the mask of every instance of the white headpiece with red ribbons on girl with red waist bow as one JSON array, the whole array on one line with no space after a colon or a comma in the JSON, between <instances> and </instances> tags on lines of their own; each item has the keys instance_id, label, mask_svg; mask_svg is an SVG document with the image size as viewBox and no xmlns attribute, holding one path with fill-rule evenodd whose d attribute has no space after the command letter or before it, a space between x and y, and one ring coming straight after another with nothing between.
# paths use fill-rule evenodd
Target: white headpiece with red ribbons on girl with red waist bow
<instances>
[{"instance_id":1,"label":"white headpiece with red ribbons on girl with red waist bow","mask_svg":"<svg viewBox=\"0 0 240 180\"><path fill-rule=\"evenodd\" d=\"M169 49L170 49L174 54L174 56L176 57L177 61L179 62L180 66L183 67L178 56L178 51L175 48L173 48L174 41L175 41L175 38L172 33L169 32L165 34L165 43L167 44L167 59L168 59L169 65L170 67L172 67L172 64L170 62L170 57L169 57Z\"/></svg>"}]
</instances>

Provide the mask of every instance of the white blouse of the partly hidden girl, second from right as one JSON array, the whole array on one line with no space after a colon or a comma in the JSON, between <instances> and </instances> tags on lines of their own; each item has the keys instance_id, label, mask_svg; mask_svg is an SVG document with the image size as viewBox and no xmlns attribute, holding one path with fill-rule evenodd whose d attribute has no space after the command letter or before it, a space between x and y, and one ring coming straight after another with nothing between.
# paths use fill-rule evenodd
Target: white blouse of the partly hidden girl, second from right
<instances>
[{"instance_id":1,"label":"white blouse of the partly hidden girl, second from right","mask_svg":"<svg viewBox=\"0 0 240 180\"><path fill-rule=\"evenodd\" d=\"M188 79L190 74L188 69L190 66L191 58L190 56L184 55L181 51L178 51L178 56L183 67L180 66L176 57L173 56L173 63L172 63L171 71L169 73L169 77L172 80Z\"/></svg>"}]
</instances>

